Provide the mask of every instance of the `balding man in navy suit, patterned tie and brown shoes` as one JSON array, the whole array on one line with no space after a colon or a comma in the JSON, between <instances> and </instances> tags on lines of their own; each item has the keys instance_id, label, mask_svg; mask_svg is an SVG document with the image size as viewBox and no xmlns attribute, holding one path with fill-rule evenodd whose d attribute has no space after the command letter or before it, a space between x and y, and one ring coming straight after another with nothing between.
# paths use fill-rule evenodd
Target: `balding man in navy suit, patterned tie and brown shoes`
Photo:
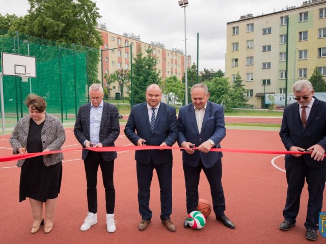
<instances>
[{"instance_id":1,"label":"balding man in navy suit, patterned tie and brown shoes","mask_svg":"<svg viewBox=\"0 0 326 244\"><path fill-rule=\"evenodd\" d=\"M161 103L161 88L151 84L146 89L146 102L135 105L124 130L128 139L138 146L162 146L160 150L136 150L139 212L142 216L138 228L145 230L151 222L152 211L149 208L150 186L153 169L156 170L159 187L161 214L160 219L169 231L175 231L171 222L172 213L172 146L178 136L176 110ZM136 132L137 131L137 132Z\"/></svg>"}]
</instances>

